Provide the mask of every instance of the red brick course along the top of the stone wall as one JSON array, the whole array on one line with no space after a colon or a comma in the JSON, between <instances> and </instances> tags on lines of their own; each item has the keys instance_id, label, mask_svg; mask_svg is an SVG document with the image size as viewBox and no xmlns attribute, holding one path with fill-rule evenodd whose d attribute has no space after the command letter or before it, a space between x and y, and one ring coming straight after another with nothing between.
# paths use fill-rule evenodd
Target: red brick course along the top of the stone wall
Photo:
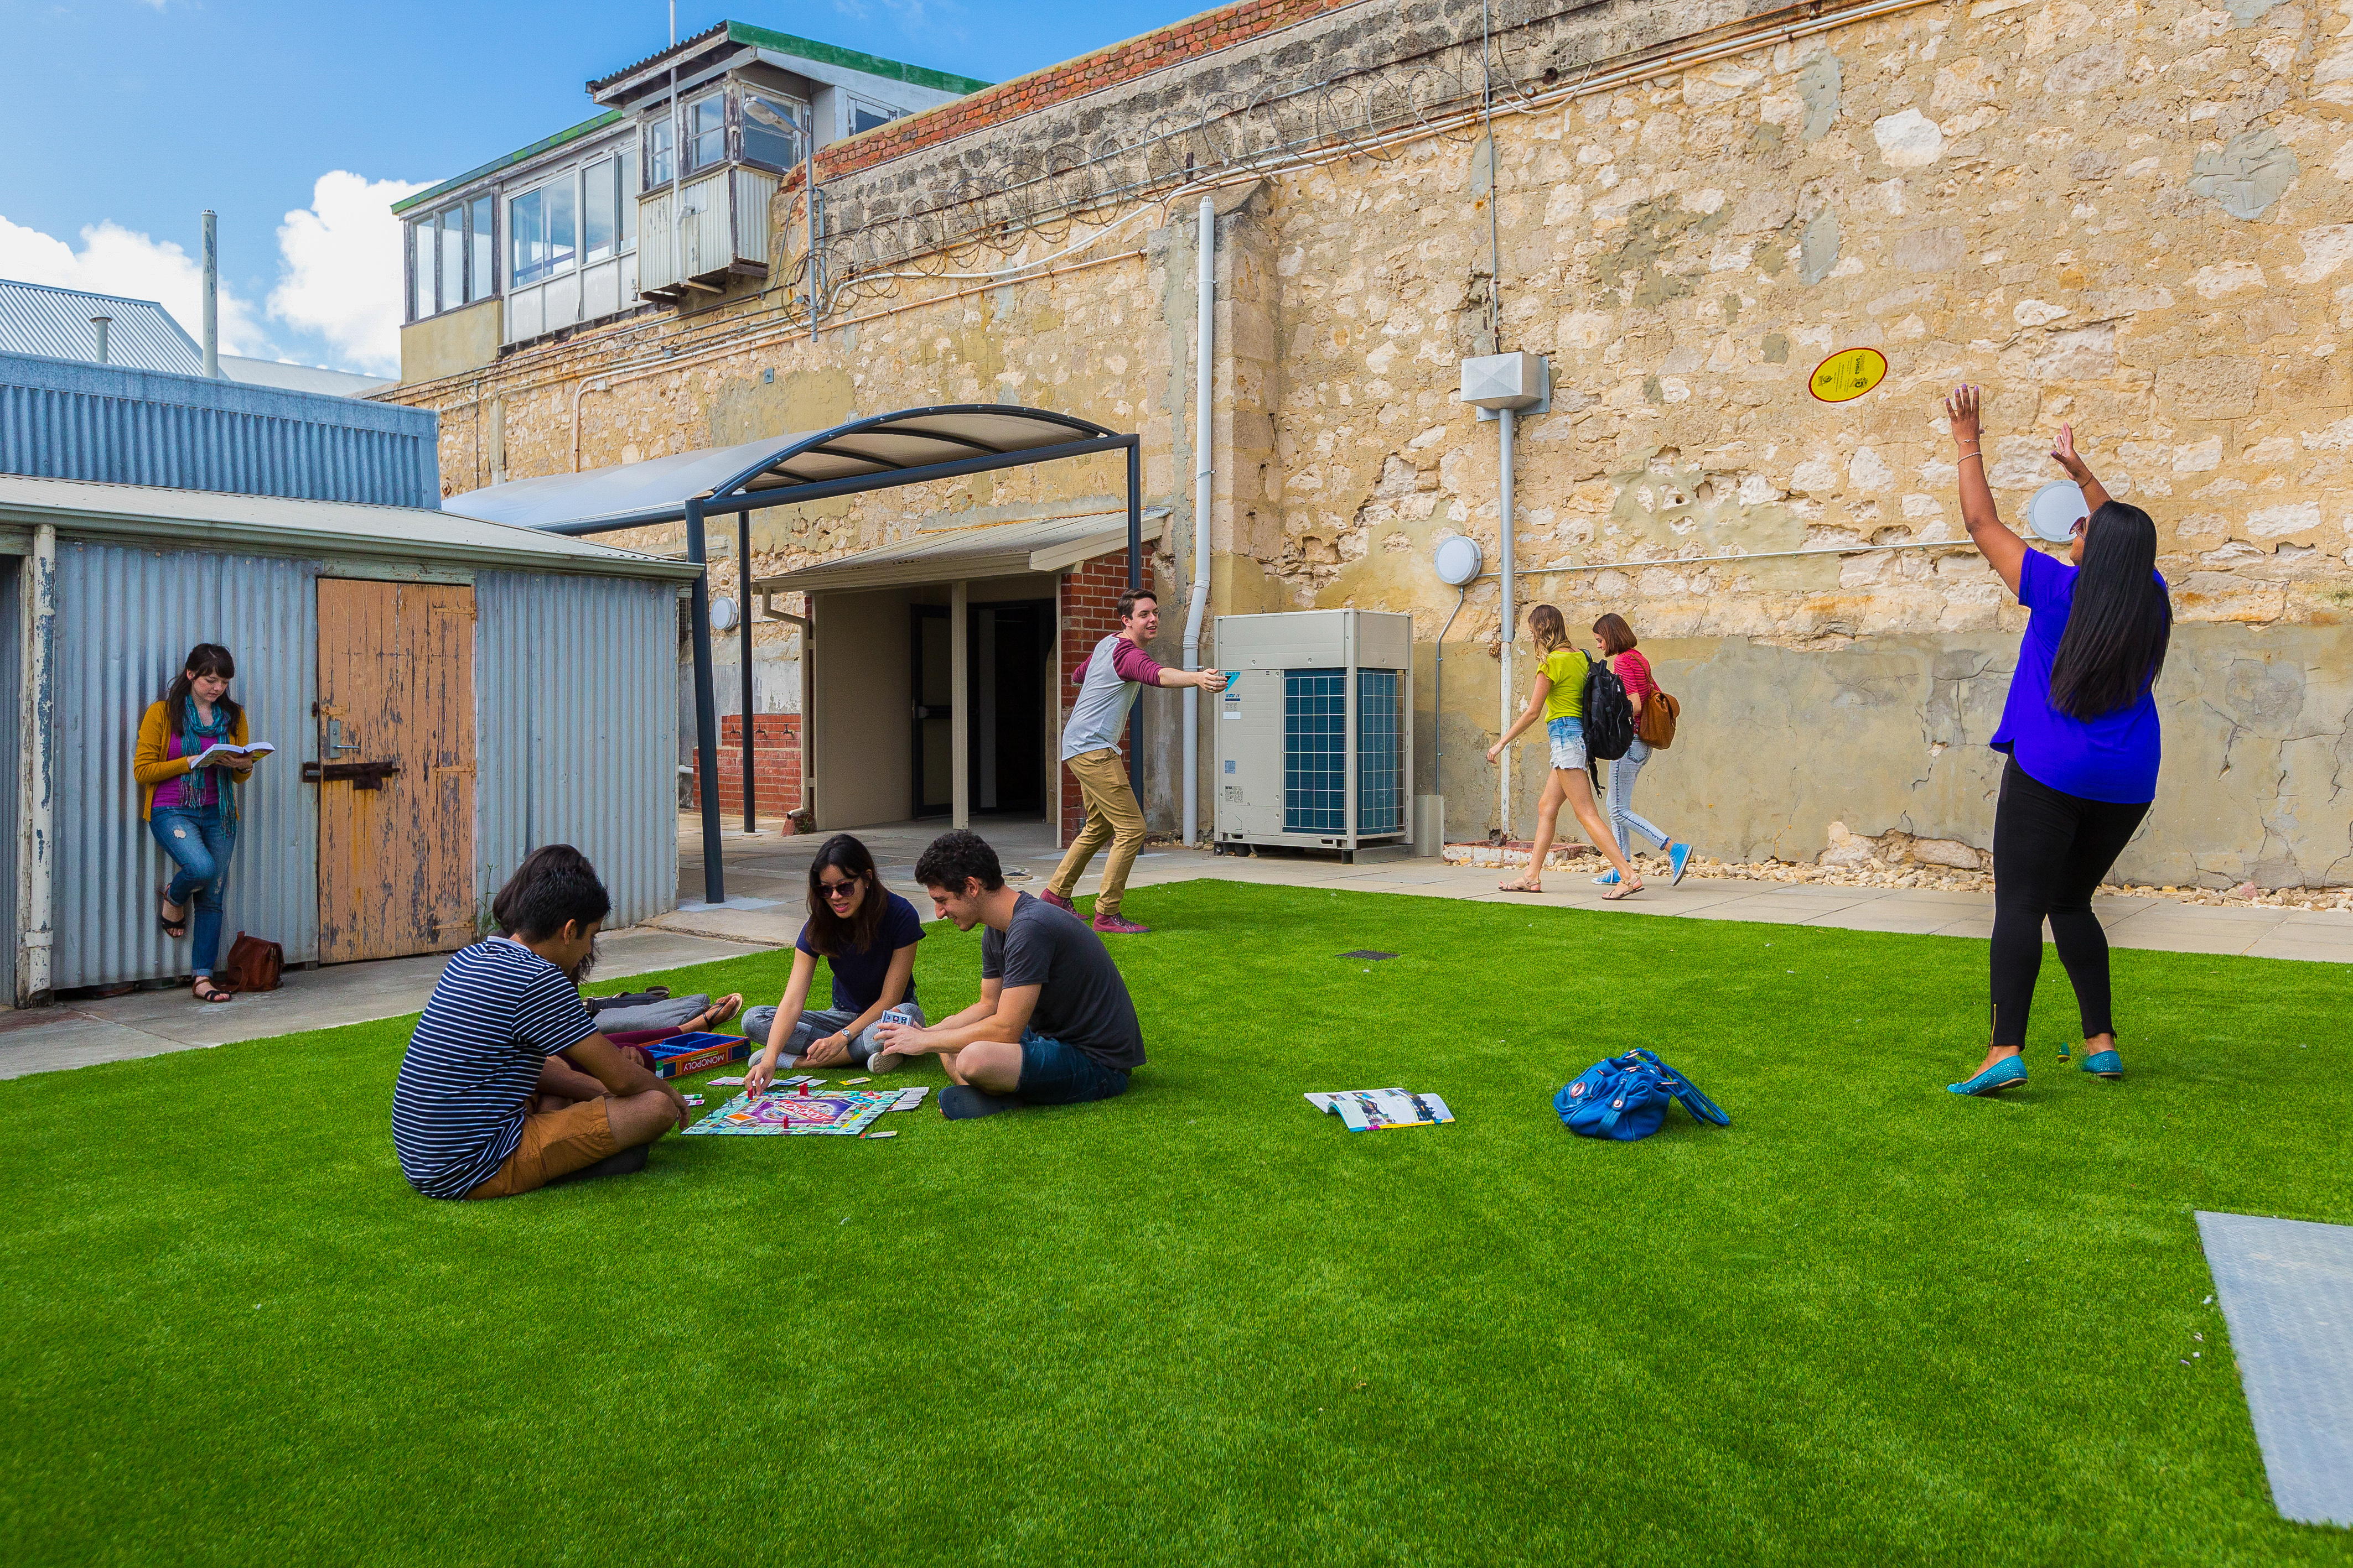
<instances>
[{"instance_id":1,"label":"red brick course along the top of the stone wall","mask_svg":"<svg viewBox=\"0 0 2353 1568\"><path fill-rule=\"evenodd\" d=\"M1158 33L1129 38L1127 42L1080 54L1073 61L1033 71L1031 75L998 82L969 96L941 103L934 110L908 115L880 125L864 136L835 141L816 153L816 179L840 179L871 169L892 158L906 158L941 141L955 141L984 132L1007 120L1068 103L1120 82L1181 66L1202 54L1217 54L1249 42L1297 21L1308 21L1325 12L1337 12L1355 0L1245 0L1217 12L1202 12L1186 21L1169 24Z\"/></svg>"}]
</instances>

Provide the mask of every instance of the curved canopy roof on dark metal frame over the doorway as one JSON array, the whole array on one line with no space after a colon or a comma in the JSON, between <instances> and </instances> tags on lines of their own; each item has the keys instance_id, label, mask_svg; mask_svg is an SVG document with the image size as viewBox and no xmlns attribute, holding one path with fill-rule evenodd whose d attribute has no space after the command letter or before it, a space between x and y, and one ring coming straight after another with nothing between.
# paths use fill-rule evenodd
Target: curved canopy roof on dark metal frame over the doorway
<instances>
[{"instance_id":1,"label":"curved canopy roof on dark metal frame over the doorway","mask_svg":"<svg viewBox=\"0 0 2353 1568\"><path fill-rule=\"evenodd\" d=\"M965 473L1113 451L1129 437L1073 414L960 402L856 418L645 463L511 480L442 501L445 512L558 534L605 534L708 512L925 484Z\"/></svg>"}]
</instances>

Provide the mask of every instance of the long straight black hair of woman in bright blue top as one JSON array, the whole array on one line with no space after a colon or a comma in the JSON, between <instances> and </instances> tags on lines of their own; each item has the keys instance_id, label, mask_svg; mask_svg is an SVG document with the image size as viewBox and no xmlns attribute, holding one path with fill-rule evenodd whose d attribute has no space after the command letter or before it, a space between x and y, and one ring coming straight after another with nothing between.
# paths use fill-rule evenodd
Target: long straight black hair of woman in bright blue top
<instances>
[{"instance_id":1,"label":"long straight black hair of woman in bright blue top","mask_svg":"<svg viewBox=\"0 0 2353 1568\"><path fill-rule=\"evenodd\" d=\"M2075 604L2052 658L2052 708L2078 719L2141 701L2165 668L2174 607L2158 585L2158 524L2108 501L2082 534Z\"/></svg>"}]
</instances>

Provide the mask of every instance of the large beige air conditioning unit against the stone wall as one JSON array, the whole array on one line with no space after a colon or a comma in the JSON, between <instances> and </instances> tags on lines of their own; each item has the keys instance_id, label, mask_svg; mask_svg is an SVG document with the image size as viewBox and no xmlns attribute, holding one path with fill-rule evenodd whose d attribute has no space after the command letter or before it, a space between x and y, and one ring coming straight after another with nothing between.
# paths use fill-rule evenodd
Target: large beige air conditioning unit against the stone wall
<instances>
[{"instance_id":1,"label":"large beige air conditioning unit against the stone wall","mask_svg":"<svg viewBox=\"0 0 2353 1568\"><path fill-rule=\"evenodd\" d=\"M1217 842L1337 849L1412 837L1414 618L1219 616Z\"/></svg>"}]
</instances>

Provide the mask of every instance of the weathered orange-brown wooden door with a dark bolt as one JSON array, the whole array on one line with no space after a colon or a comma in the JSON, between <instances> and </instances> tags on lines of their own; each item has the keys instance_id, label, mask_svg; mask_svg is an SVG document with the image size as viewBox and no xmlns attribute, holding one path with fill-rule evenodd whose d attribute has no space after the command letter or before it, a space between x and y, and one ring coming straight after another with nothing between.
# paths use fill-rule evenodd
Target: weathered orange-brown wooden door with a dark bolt
<instances>
[{"instance_id":1,"label":"weathered orange-brown wooden door with a dark bolt","mask_svg":"<svg viewBox=\"0 0 2353 1568\"><path fill-rule=\"evenodd\" d=\"M473 588L318 583L318 957L475 936Z\"/></svg>"}]
</instances>

